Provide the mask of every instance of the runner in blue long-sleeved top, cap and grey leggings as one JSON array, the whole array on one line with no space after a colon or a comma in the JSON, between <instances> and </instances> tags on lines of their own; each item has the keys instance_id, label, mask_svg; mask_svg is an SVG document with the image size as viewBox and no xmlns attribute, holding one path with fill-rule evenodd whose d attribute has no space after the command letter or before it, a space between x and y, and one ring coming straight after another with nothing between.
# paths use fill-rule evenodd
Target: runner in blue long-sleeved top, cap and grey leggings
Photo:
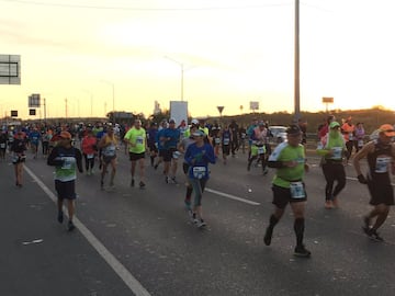
<instances>
[{"instance_id":1,"label":"runner in blue long-sleeved top, cap and grey leggings","mask_svg":"<svg viewBox=\"0 0 395 296\"><path fill-rule=\"evenodd\" d=\"M204 132L196 130L192 135L195 143L188 147L184 160L189 164L189 182L195 194L192 219L199 228L202 228L206 226L202 214L202 195L210 178L208 162L215 163L215 155L213 146L204 143Z\"/></svg>"}]
</instances>

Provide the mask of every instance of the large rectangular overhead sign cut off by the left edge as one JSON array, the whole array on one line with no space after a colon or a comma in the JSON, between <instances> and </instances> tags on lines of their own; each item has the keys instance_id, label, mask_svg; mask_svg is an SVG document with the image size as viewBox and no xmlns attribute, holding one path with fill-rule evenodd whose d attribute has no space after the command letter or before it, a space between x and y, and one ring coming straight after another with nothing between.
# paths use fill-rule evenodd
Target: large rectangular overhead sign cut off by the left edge
<instances>
[{"instance_id":1,"label":"large rectangular overhead sign cut off by the left edge","mask_svg":"<svg viewBox=\"0 0 395 296\"><path fill-rule=\"evenodd\" d=\"M0 84L21 84L21 56L0 55Z\"/></svg>"}]
</instances>

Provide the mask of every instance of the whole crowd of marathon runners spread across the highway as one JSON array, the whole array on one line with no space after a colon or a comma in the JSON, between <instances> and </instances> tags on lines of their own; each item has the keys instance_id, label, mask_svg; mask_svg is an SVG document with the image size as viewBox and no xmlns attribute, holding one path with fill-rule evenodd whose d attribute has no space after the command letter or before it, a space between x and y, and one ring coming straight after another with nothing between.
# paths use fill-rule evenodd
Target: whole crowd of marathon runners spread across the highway
<instances>
[{"instance_id":1,"label":"whole crowd of marathon runners spread across the highway","mask_svg":"<svg viewBox=\"0 0 395 296\"><path fill-rule=\"evenodd\" d=\"M289 126L286 140L273 150L269 125L253 119L244 128L235 121L230 124L204 119L192 119L190 125L176 119L147 123L135 119L132 126L100 123L87 125L47 126L31 124L2 130L0 134L0 159L11 153L15 171L15 185L23 186L23 163L25 151L31 149L33 159L40 155L55 167L55 189L58 194L59 223L64 221L63 204L67 201L68 229L75 229L75 181L77 170L87 175L98 170L101 190L113 190L116 184L117 153L128 153L131 161L131 186L144 190L147 185L145 158L149 164L163 173L165 183L178 183L177 171L182 163L187 179L184 206L190 219L200 228L206 226L202 210L202 197L210 179L210 163L227 164L228 157L248 153L246 170L261 167L262 174L268 168L275 170L272 181L274 212L269 218L263 241L271 244L274 226L280 221L290 204L294 214L293 229L296 236L294 254L309 257L303 242L305 229L305 204L307 201L304 174L308 171L306 160L306 122ZM326 180L325 208L339 207L339 193L346 186L345 167L353 164L358 180L366 184L373 209L363 218L362 229L366 236L383 241L377 229L384 224L394 204L390 173L395 174L394 126L380 126L374 139L365 141L363 125L353 125L349 117L343 123L334 115L326 118L318 128L317 156ZM353 149L356 153L352 157ZM360 160L366 158L369 171L363 174ZM180 161L180 159L182 159ZM350 162L352 161L352 162ZM98 169L97 169L98 168ZM106 185L108 184L108 185ZM192 198L193 196L193 198Z\"/></svg>"}]
</instances>

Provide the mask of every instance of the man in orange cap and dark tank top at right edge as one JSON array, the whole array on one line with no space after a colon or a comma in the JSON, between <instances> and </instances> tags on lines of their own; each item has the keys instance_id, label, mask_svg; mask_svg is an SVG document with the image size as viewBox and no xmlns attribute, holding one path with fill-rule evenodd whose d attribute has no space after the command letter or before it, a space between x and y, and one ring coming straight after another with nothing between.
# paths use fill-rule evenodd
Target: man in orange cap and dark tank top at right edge
<instances>
[{"instance_id":1,"label":"man in orange cap and dark tank top at right edge","mask_svg":"<svg viewBox=\"0 0 395 296\"><path fill-rule=\"evenodd\" d=\"M395 137L394 127L391 124L382 125L379 128L379 138L363 146L353 158L358 181L368 184L370 204L373 206L373 209L363 217L362 229L375 241L384 240L377 229L386 220L390 206L394 205L394 190L390 178L390 170L395 174L395 145L391 143L392 137ZM360 166L360 160L363 158L368 159L366 177L362 174ZM371 225L374 218L375 221Z\"/></svg>"}]
</instances>

